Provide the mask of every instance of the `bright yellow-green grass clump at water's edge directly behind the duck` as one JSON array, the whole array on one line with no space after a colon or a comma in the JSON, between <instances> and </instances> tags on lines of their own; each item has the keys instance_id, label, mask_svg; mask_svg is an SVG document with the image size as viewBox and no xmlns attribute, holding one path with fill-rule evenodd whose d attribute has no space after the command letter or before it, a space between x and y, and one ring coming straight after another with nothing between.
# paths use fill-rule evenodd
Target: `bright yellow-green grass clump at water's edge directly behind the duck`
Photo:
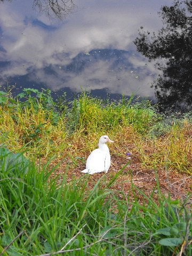
<instances>
[{"instance_id":1,"label":"bright yellow-green grass clump at water's edge directly behind the duck","mask_svg":"<svg viewBox=\"0 0 192 256\"><path fill-rule=\"evenodd\" d=\"M133 125L136 131L145 133L149 125L157 118L149 101L133 104L130 100L105 102L83 93L78 100L73 101L69 113L69 124L76 130L85 133L114 130L118 126Z\"/></svg>"}]
</instances>

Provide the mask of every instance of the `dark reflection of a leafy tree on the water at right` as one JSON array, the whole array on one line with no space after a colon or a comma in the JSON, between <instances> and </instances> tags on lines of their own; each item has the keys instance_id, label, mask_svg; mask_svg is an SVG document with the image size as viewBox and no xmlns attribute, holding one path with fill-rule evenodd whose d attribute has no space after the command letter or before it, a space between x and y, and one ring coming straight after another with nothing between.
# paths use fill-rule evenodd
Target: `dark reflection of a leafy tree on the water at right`
<instances>
[{"instance_id":1,"label":"dark reflection of a leafy tree on the water at right","mask_svg":"<svg viewBox=\"0 0 192 256\"><path fill-rule=\"evenodd\" d=\"M161 109L192 106L192 0L174 1L159 14L163 28L158 33L143 31L134 41L137 50L156 60L161 76L151 85ZM163 63L163 64L162 64Z\"/></svg>"}]
</instances>

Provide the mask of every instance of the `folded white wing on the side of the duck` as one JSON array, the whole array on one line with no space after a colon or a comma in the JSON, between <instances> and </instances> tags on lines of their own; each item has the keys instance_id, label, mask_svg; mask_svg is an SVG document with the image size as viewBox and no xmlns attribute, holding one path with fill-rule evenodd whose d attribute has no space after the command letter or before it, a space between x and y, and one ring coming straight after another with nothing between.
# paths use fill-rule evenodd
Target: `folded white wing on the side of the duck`
<instances>
[{"instance_id":1,"label":"folded white wing on the side of the duck","mask_svg":"<svg viewBox=\"0 0 192 256\"><path fill-rule=\"evenodd\" d=\"M105 158L106 154L99 148L92 151L86 161L86 169L94 172L105 171Z\"/></svg>"}]
</instances>

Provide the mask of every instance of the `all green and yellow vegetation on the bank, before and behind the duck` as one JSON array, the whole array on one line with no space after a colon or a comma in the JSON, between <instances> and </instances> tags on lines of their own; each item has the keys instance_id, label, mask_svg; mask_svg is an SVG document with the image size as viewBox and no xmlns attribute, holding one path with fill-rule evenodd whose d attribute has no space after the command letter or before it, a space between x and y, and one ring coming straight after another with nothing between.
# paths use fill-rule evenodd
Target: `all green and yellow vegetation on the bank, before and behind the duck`
<instances>
[{"instance_id":1,"label":"all green and yellow vegetation on the bank, before and behind the duck","mask_svg":"<svg viewBox=\"0 0 192 256\"><path fill-rule=\"evenodd\" d=\"M0 255L192 255L190 194L163 195L158 172L150 195L131 179L130 193L114 190L121 167L91 189L87 175L67 179L103 134L116 141L112 159L126 164L131 151L145 168L191 175L191 113L167 117L148 100L86 93L58 102L49 90L0 91Z\"/></svg>"}]
</instances>

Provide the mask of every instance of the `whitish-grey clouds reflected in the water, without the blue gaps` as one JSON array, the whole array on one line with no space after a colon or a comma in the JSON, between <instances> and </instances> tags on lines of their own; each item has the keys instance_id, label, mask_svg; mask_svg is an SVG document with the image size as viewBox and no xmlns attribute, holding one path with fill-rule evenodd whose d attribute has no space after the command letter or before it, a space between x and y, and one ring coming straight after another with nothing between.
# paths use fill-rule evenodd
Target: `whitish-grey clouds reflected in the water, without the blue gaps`
<instances>
[{"instance_id":1,"label":"whitish-grey clouds reflected in the water, without the blue gaps","mask_svg":"<svg viewBox=\"0 0 192 256\"><path fill-rule=\"evenodd\" d=\"M24 2L25 6L22 9ZM24 2L20 0L12 4L1 4L0 22L3 30L1 45L6 50L6 54L2 54L2 60L11 61L11 65L2 71L2 77L25 75L32 67L35 70L34 77L38 77L38 81L44 82L54 90L65 84L79 91L80 85L88 85L90 89L109 87L111 92L130 94L140 87L142 95L154 95L149 86L153 77L149 77L148 73L150 70L150 73L157 74L157 70L152 63L146 66L146 60L136 55L127 58L127 61L133 68L140 68L141 72L138 75L141 82L127 73L124 68L121 72L109 75L110 64L101 60L94 62L94 65L90 64L78 75L58 70L58 65L69 64L80 52L108 47L126 51L135 50L132 41L137 36L141 24L144 24L146 29L156 29L160 24L156 15L149 18L146 14L147 8L151 9L151 12L154 10L153 6L139 5L140 1L130 5L124 0L120 1L122 4L111 0L110 3L92 1L88 5L87 1L78 1L77 12L69 15L67 22L59 26L56 22L57 29L46 30L31 23L35 13L31 13L27 1ZM159 7L159 4L155 6ZM26 17L28 22L25 22ZM47 25L52 22L44 14L36 14L36 17ZM55 67L57 76L44 73L43 68L49 65L57 65ZM121 76L121 80L118 80L117 76ZM30 75L30 79L32 77ZM98 83L99 80L102 82Z\"/></svg>"}]
</instances>

